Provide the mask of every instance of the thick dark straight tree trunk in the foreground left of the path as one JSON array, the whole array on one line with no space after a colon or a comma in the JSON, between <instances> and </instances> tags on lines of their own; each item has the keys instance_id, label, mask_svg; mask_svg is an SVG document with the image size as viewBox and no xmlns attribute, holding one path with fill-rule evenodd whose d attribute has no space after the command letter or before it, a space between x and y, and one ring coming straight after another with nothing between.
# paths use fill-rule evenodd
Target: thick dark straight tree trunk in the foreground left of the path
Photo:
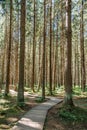
<instances>
[{"instance_id":1,"label":"thick dark straight tree trunk in the foreground left of the path","mask_svg":"<svg viewBox=\"0 0 87 130\"><path fill-rule=\"evenodd\" d=\"M25 8L26 8L26 0L21 0L18 105L19 103L24 102L25 14L26 14Z\"/></svg>"}]
</instances>

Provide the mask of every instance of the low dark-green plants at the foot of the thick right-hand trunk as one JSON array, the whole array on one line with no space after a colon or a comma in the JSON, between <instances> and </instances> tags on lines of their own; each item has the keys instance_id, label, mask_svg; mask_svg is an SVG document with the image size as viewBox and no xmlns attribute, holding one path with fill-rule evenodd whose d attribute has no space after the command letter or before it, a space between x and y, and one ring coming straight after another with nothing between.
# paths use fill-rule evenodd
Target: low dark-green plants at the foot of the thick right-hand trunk
<instances>
[{"instance_id":1,"label":"low dark-green plants at the foot of the thick right-hand trunk","mask_svg":"<svg viewBox=\"0 0 87 130\"><path fill-rule=\"evenodd\" d=\"M79 107L70 108L70 106L60 109L59 117L66 121L85 122L87 120L87 110Z\"/></svg>"}]
</instances>

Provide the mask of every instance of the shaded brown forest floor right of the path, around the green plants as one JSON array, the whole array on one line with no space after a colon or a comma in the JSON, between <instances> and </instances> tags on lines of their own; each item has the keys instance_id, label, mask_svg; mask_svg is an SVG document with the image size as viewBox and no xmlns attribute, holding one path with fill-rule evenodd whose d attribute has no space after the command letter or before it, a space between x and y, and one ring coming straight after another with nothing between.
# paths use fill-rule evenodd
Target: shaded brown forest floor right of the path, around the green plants
<instances>
[{"instance_id":1,"label":"shaded brown forest floor right of the path, around the green plants","mask_svg":"<svg viewBox=\"0 0 87 130\"><path fill-rule=\"evenodd\" d=\"M84 113L84 116L87 116L87 98L75 98L74 99L74 104L76 107L82 108L86 110ZM73 115L70 117L69 115L64 115L66 118L61 118L59 116L60 110L62 108L63 103L55 105L53 108L51 108L47 114L44 130L87 130L87 120L84 121L82 118L82 121L78 121L75 118L75 120L71 120ZM75 114L79 114L81 116L81 111L79 110L76 111ZM66 113L68 114L68 113Z\"/></svg>"}]
</instances>

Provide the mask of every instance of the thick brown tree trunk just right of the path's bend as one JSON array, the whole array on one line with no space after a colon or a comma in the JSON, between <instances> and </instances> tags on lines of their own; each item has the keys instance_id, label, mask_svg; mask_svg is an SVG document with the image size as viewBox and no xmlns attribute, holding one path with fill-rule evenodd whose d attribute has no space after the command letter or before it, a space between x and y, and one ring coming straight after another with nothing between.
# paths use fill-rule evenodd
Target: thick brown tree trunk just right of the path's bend
<instances>
[{"instance_id":1,"label":"thick brown tree trunk just right of the path's bend","mask_svg":"<svg viewBox=\"0 0 87 130\"><path fill-rule=\"evenodd\" d=\"M72 30L71 30L71 0L66 0L66 44L67 44L67 61L65 69L65 105L73 105L72 100Z\"/></svg>"}]
</instances>

